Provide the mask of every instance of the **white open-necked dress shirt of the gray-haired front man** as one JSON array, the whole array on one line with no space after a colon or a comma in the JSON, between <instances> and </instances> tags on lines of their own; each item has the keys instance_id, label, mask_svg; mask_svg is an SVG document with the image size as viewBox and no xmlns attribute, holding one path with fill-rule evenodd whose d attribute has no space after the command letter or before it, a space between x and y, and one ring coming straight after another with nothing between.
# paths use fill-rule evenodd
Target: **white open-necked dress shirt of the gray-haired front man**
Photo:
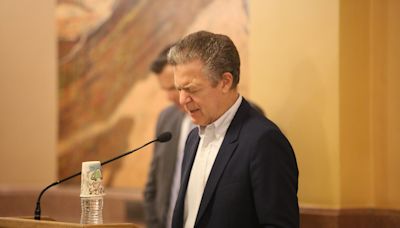
<instances>
[{"instance_id":1,"label":"white open-necked dress shirt of the gray-haired front man","mask_svg":"<svg viewBox=\"0 0 400 228\"><path fill-rule=\"evenodd\" d=\"M226 131L241 102L242 96L239 96L236 102L220 118L206 127L199 127L200 143L197 148L185 196L185 228L194 227L208 176L210 175L222 141L225 138Z\"/></svg>"}]
</instances>

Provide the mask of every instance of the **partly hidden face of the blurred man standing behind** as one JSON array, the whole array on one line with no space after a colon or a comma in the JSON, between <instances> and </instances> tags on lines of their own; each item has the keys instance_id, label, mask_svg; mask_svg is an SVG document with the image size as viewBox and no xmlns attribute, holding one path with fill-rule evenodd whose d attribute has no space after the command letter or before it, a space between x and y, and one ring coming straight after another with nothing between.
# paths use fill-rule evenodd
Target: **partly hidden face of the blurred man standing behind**
<instances>
[{"instance_id":1,"label":"partly hidden face of the blurred man standing behind","mask_svg":"<svg viewBox=\"0 0 400 228\"><path fill-rule=\"evenodd\" d=\"M158 82L160 83L161 89L163 89L169 101L174 103L176 106L180 107L179 104L179 93L178 90L175 89L174 84L174 71L171 65L166 65L158 75Z\"/></svg>"}]
</instances>

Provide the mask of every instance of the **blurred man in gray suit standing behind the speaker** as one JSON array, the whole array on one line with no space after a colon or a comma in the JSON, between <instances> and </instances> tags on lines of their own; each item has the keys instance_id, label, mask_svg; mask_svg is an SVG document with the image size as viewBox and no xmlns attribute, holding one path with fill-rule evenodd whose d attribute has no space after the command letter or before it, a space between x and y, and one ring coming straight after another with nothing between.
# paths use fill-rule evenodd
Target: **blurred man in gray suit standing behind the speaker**
<instances>
[{"instance_id":1,"label":"blurred man in gray suit standing behind the speaker","mask_svg":"<svg viewBox=\"0 0 400 228\"><path fill-rule=\"evenodd\" d=\"M150 66L173 104L164 109L157 120L156 135L169 131L172 139L168 143L156 143L150 171L144 190L144 206L147 227L171 227L172 213L180 184L181 162L184 144L193 128L190 118L179 104L175 89L172 66L167 63L171 45L166 47Z\"/></svg>"}]
</instances>

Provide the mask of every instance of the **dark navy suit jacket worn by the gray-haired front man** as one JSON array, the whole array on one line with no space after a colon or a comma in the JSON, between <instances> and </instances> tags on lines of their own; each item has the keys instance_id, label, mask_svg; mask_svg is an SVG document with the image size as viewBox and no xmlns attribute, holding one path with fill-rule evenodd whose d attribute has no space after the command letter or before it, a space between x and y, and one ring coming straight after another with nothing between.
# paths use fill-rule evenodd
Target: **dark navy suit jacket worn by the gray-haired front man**
<instances>
[{"instance_id":1,"label":"dark navy suit jacket worn by the gray-haired front man","mask_svg":"<svg viewBox=\"0 0 400 228\"><path fill-rule=\"evenodd\" d=\"M184 201L200 138L188 137L172 227L183 227ZM299 227L298 169L279 128L243 99L204 189L195 227Z\"/></svg>"}]
</instances>

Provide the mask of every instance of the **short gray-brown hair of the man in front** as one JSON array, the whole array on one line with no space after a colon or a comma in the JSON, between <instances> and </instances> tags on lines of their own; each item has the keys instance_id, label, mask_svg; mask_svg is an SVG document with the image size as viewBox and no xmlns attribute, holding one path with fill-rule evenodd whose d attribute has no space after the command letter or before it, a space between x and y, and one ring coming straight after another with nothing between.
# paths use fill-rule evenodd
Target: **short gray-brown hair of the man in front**
<instances>
[{"instance_id":1,"label":"short gray-brown hair of the man in front","mask_svg":"<svg viewBox=\"0 0 400 228\"><path fill-rule=\"evenodd\" d=\"M200 60L213 85L222 74L233 75L231 88L236 88L240 79L240 57L233 41L226 35L199 31L178 41L168 53L168 63L176 66Z\"/></svg>"}]
</instances>

